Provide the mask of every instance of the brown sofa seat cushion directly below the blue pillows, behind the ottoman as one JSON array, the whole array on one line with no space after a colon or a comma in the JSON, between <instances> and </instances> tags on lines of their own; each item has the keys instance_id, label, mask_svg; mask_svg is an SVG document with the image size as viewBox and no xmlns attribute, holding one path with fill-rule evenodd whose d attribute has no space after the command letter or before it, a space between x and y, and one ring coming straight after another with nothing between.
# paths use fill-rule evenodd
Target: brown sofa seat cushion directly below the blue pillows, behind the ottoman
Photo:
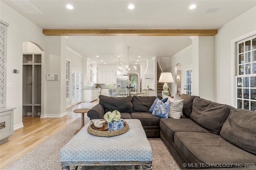
<instances>
[{"instance_id":1,"label":"brown sofa seat cushion directly below the blue pillows, behind the ottoman","mask_svg":"<svg viewBox=\"0 0 256 170\"><path fill-rule=\"evenodd\" d=\"M159 126L161 117L154 116L150 112L133 112L132 119L139 119L142 126Z\"/></svg>"}]
</instances>

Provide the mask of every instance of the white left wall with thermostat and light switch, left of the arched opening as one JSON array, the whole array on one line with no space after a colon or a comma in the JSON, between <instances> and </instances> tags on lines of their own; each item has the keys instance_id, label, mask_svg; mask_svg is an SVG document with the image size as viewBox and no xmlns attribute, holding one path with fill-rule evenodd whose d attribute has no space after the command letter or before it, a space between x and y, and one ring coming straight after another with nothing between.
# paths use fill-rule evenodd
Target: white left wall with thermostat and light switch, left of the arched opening
<instances>
[{"instance_id":1,"label":"white left wall with thermostat and light switch, left of the arched opening","mask_svg":"<svg viewBox=\"0 0 256 170\"><path fill-rule=\"evenodd\" d=\"M42 28L18 14L2 1L0 2L0 19L9 23L7 39L7 82L13 88L6 90L6 104L14 109L14 130L23 127L22 123L22 43L31 41L45 49L45 35ZM20 70L13 74L12 70Z\"/></svg>"}]
</instances>

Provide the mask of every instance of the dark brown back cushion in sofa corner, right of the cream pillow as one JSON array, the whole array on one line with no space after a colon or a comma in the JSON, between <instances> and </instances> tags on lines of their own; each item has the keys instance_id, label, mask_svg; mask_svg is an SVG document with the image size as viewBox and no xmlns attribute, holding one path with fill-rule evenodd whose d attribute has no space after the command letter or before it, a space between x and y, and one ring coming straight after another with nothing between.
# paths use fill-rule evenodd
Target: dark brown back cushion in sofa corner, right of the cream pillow
<instances>
[{"instance_id":1,"label":"dark brown back cushion in sofa corner, right of the cream pillow","mask_svg":"<svg viewBox=\"0 0 256 170\"><path fill-rule=\"evenodd\" d=\"M183 102L183 110L182 113L183 115L185 115L186 117L190 118L190 114L192 112L192 104L194 101L194 98L200 98L199 96L189 96L187 94L182 94L180 96L181 99L184 99Z\"/></svg>"}]
</instances>

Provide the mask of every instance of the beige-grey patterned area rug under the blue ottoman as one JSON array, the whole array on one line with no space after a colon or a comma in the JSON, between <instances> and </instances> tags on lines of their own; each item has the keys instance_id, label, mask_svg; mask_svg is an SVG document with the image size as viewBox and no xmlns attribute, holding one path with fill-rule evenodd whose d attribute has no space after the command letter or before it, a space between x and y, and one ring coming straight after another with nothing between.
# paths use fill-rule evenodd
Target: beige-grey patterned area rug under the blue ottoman
<instances>
[{"instance_id":1,"label":"beige-grey patterned area rug under the blue ottoman","mask_svg":"<svg viewBox=\"0 0 256 170\"><path fill-rule=\"evenodd\" d=\"M85 123L89 118L85 120ZM61 170L59 151L74 136L77 129L81 127L81 118L76 119L64 129L44 141L41 145L16 160L5 170ZM148 139L152 151L153 162L152 170L180 170L180 167L170 154L167 147L161 139ZM70 166L70 170L74 170L75 166ZM127 167L126 167L127 168ZM113 170L126 169L123 167L100 167L79 166L78 170Z\"/></svg>"}]
</instances>

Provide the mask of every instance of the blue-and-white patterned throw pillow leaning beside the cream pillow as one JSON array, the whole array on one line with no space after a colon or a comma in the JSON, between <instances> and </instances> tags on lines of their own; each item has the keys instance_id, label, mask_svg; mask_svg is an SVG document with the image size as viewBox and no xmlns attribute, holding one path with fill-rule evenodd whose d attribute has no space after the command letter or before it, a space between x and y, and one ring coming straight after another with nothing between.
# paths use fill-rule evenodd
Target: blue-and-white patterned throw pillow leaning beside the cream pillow
<instances>
[{"instance_id":1,"label":"blue-and-white patterned throw pillow leaning beside the cream pillow","mask_svg":"<svg viewBox=\"0 0 256 170\"><path fill-rule=\"evenodd\" d=\"M158 100L156 102L156 106L154 107L152 115L155 115L155 116L158 116L158 117L168 118L169 109L170 109L170 102L169 101L164 103L161 100Z\"/></svg>"}]
</instances>

